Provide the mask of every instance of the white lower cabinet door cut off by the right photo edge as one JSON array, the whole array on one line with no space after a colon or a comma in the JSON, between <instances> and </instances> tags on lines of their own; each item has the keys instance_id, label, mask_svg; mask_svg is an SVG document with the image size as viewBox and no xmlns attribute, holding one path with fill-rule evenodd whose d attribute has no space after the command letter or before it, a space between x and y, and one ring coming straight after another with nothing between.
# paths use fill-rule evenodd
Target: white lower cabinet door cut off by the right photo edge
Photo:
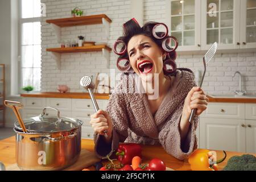
<instances>
[{"instance_id":1,"label":"white lower cabinet door cut off by the right photo edge","mask_svg":"<svg viewBox=\"0 0 256 182\"><path fill-rule=\"evenodd\" d=\"M246 152L256 153L256 120L246 120Z\"/></svg>"}]
</instances>

